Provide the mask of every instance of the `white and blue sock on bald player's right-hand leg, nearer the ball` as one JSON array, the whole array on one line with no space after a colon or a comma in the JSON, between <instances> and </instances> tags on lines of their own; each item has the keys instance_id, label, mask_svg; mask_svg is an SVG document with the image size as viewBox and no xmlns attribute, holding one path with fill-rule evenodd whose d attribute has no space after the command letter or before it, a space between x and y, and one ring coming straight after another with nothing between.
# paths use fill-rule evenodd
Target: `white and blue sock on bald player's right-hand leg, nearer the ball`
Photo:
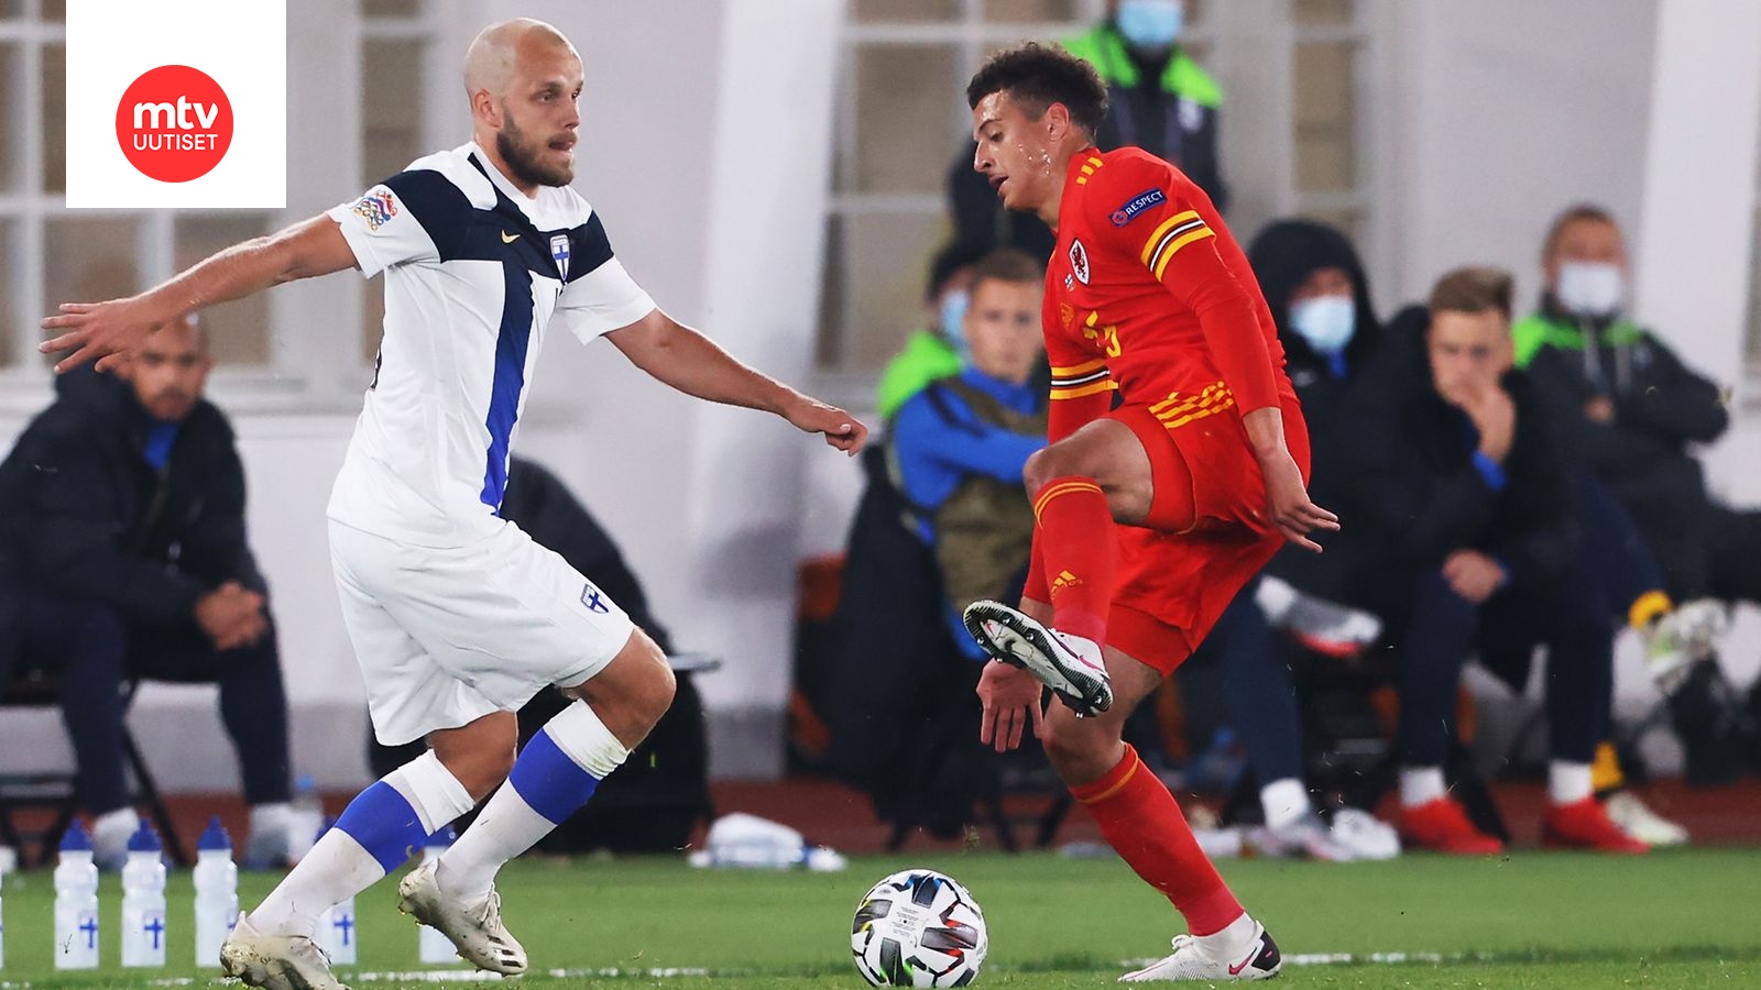
<instances>
[{"instance_id":1,"label":"white and blue sock on bald player's right-hand leg, nearer the ball","mask_svg":"<svg viewBox=\"0 0 1761 990\"><path fill-rule=\"evenodd\" d=\"M544 745L541 736L548 736L555 749ZM630 750L623 749L585 701L569 705L527 743L507 784L483 805L483 814L465 835L440 854L435 883L467 904L483 900L502 863L530 849L581 807L574 798L556 803L556 791L578 793L586 787L592 793L629 756ZM592 784L586 784L588 779ZM541 786L549 789L537 793ZM546 807L546 800L553 803ZM534 803L546 807L555 817L546 817Z\"/></svg>"}]
</instances>

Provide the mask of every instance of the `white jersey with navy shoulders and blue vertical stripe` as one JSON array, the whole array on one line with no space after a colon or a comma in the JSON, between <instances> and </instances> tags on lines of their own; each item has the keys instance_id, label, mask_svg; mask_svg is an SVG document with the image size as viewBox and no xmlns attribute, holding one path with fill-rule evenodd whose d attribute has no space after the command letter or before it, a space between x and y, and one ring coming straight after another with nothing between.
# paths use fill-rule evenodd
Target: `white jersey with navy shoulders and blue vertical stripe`
<instances>
[{"instance_id":1,"label":"white jersey with navy shoulders and blue vertical stripe","mask_svg":"<svg viewBox=\"0 0 1761 990\"><path fill-rule=\"evenodd\" d=\"M475 144L329 211L386 329L329 518L417 546L502 528L507 458L553 314L583 342L655 305L572 188L527 197Z\"/></svg>"}]
</instances>

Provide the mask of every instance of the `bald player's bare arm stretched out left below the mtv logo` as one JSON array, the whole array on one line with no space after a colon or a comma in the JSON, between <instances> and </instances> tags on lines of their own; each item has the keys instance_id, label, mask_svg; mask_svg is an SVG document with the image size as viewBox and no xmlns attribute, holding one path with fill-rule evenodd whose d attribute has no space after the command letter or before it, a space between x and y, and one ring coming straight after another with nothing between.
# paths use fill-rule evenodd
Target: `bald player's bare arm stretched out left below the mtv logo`
<instances>
[{"instance_id":1,"label":"bald player's bare arm stretched out left below the mtv logo","mask_svg":"<svg viewBox=\"0 0 1761 990\"><path fill-rule=\"evenodd\" d=\"M232 245L139 296L106 303L62 303L60 315L42 321L42 329L62 333L39 349L44 354L72 351L55 365L56 373L93 358L104 372L160 324L269 285L343 268L354 268L354 252L349 250L342 227L329 217L313 217L276 234Z\"/></svg>"}]
</instances>

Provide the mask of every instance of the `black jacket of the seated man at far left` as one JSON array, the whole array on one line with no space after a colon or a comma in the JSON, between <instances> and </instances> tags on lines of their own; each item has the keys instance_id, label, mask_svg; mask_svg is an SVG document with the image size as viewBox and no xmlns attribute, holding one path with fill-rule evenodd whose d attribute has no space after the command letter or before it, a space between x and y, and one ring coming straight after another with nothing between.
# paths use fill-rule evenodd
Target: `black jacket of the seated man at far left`
<instances>
[{"instance_id":1,"label":"black jacket of the seated man at far left","mask_svg":"<svg viewBox=\"0 0 1761 990\"><path fill-rule=\"evenodd\" d=\"M264 592L245 543L245 469L232 426L199 402L166 469L144 453L146 410L122 380L74 372L0 463L0 581L106 602L148 624L192 622L225 583Z\"/></svg>"}]
</instances>

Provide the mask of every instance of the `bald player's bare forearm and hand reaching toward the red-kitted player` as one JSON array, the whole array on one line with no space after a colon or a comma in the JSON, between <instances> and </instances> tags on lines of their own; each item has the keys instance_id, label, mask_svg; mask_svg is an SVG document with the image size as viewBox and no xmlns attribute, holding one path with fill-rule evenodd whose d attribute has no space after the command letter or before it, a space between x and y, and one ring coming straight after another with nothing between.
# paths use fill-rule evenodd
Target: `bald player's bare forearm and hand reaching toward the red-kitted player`
<instances>
[{"instance_id":1,"label":"bald player's bare forearm and hand reaching toward the red-kitted player","mask_svg":"<svg viewBox=\"0 0 1761 990\"><path fill-rule=\"evenodd\" d=\"M808 433L822 433L828 444L849 454L868 439L868 426L849 412L741 365L713 340L659 308L613 329L606 340L632 365L685 395L775 412Z\"/></svg>"}]
</instances>

